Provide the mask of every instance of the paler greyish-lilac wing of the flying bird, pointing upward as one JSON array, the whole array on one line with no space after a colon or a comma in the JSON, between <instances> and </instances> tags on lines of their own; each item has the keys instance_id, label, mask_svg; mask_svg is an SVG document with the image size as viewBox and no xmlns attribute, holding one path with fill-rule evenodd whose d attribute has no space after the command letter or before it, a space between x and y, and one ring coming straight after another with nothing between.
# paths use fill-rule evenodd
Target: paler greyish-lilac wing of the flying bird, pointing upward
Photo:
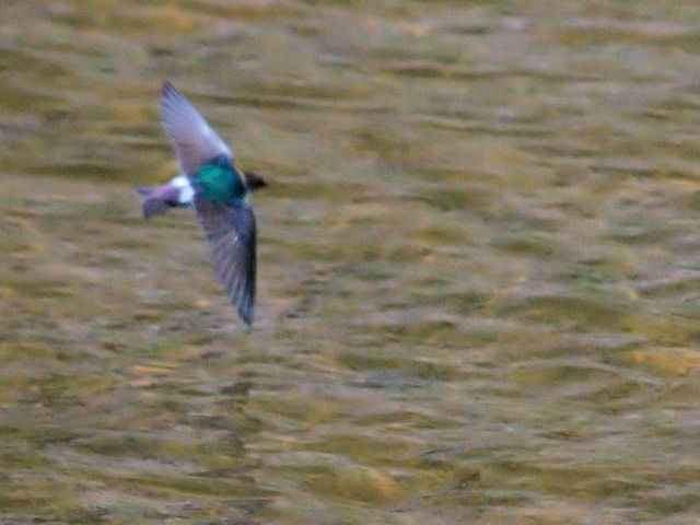
<instances>
[{"instance_id":1,"label":"paler greyish-lilac wing of the flying bird, pointing upward","mask_svg":"<svg viewBox=\"0 0 700 525\"><path fill-rule=\"evenodd\" d=\"M185 175L191 177L202 164L221 154L233 163L229 147L185 95L167 81L161 88L161 118Z\"/></svg>"}]
</instances>

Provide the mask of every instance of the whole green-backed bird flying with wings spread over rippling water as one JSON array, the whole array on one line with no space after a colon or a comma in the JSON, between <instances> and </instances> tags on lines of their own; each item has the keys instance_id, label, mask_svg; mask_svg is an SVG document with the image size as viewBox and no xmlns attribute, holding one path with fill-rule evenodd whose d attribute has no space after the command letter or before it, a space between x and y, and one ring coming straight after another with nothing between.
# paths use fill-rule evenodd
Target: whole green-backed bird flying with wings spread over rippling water
<instances>
[{"instance_id":1,"label":"whole green-backed bird flying with wings spread over rippling water","mask_svg":"<svg viewBox=\"0 0 700 525\"><path fill-rule=\"evenodd\" d=\"M163 186L137 188L148 219L194 203L211 248L214 273L243 320L250 325L256 293L256 226L247 194L266 186L238 172L229 147L170 82L161 90L161 114L182 174Z\"/></svg>"}]
</instances>

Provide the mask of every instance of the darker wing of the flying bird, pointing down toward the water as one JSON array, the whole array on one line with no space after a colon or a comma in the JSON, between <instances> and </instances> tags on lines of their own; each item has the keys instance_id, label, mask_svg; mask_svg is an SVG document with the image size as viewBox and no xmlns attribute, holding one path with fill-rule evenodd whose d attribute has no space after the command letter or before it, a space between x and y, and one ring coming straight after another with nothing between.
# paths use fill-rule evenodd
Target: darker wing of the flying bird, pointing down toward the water
<instances>
[{"instance_id":1,"label":"darker wing of the flying bird, pointing down toward the water","mask_svg":"<svg viewBox=\"0 0 700 525\"><path fill-rule=\"evenodd\" d=\"M234 205L212 202L195 195L195 208L209 244L214 273L243 320L255 314L255 243L253 208L247 200Z\"/></svg>"}]
</instances>

